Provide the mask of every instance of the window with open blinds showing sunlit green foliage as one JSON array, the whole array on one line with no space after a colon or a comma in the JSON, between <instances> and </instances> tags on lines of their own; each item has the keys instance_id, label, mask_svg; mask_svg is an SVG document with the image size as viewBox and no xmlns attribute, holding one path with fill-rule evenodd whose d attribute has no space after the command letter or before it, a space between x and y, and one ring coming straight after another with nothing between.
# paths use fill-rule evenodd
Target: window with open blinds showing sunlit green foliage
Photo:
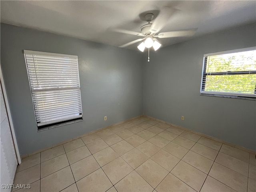
<instances>
[{"instance_id":1,"label":"window with open blinds showing sunlit green foliage","mask_svg":"<svg viewBox=\"0 0 256 192\"><path fill-rule=\"evenodd\" d=\"M200 93L256 99L256 48L204 55Z\"/></svg>"}]
</instances>

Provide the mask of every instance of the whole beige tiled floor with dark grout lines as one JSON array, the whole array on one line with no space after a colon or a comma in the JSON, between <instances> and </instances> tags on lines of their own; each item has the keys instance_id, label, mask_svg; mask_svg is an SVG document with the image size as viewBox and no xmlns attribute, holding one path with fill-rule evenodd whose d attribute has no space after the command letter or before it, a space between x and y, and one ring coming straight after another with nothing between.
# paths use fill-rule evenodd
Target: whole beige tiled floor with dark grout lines
<instances>
[{"instance_id":1,"label":"whole beige tiled floor with dark grout lines","mask_svg":"<svg viewBox=\"0 0 256 192\"><path fill-rule=\"evenodd\" d=\"M17 192L255 192L256 158L141 117L24 158L14 184L31 184Z\"/></svg>"}]
</instances>

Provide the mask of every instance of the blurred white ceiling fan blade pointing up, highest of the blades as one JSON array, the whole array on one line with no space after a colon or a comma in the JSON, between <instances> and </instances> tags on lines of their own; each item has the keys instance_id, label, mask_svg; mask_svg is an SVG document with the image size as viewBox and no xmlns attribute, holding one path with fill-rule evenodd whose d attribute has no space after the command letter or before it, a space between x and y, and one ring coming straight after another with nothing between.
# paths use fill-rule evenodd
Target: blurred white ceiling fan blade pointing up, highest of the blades
<instances>
[{"instance_id":1,"label":"blurred white ceiling fan blade pointing up, highest of the blades","mask_svg":"<svg viewBox=\"0 0 256 192\"><path fill-rule=\"evenodd\" d=\"M162 10L160 10L159 15L156 17L156 19L154 20L153 24L150 27L150 32L159 32L166 25L170 16L172 16L172 14L176 11L177 9L166 6Z\"/></svg>"}]
</instances>

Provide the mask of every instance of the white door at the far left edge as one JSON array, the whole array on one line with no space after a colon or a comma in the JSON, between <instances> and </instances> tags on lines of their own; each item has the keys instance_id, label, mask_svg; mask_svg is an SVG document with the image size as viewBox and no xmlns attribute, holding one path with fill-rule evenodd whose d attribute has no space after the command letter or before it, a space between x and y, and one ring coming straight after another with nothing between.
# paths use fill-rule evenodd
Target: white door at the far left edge
<instances>
[{"instance_id":1,"label":"white door at the far left edge","mask_svg":"<svg viewBox=\"0 0 256 192\"><path fill-rule=\"evenodd\" d=\"M2 91L2 81L0 89L0 191L10 192L11 188L5 188L3 185L13 184L18 162L16 158L10 123L6 112L6 102L4 101L4 94Z\"/></svg>"}]
</instances>

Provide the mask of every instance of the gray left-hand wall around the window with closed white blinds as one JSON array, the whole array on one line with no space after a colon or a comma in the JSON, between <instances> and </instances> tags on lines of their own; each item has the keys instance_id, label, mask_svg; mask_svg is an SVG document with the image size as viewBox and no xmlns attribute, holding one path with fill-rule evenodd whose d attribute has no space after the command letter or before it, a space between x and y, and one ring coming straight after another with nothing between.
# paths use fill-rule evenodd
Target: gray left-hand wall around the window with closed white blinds
<instances>
[{"instance_id":1,"label":"gray left-hand wall around the window with closed white blinds","mask_svg":"<svg viewBox=\"0 0 256 192\"><path fill-rule=\"evenodd\" d=\"M37 132L24 49L78 56L82 122ZM139 52L1 24L1 67L21 154L142 115Z\"/></svg>"}]
</instances>

